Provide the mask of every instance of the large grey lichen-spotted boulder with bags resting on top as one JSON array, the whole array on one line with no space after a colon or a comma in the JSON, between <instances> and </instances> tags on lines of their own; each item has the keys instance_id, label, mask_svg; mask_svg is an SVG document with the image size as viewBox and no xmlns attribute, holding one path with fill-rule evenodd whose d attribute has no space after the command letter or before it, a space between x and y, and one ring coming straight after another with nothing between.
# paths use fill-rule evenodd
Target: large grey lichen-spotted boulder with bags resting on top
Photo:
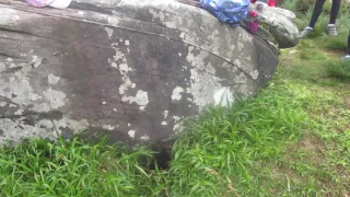
<instances>
[{"instance_id":1,"label":"large grey lichen-spotted boulder with bags resting on top","mask_svg":"<svg viewBox=\"0 0 350 197\"><path fill-rule=\"evenodd\" d=\"M0 142L80 129L166 139L206 106L254 95L278 65L267 42L172 0L9 2L0 3Z\"/></svg>"}]
</instances>

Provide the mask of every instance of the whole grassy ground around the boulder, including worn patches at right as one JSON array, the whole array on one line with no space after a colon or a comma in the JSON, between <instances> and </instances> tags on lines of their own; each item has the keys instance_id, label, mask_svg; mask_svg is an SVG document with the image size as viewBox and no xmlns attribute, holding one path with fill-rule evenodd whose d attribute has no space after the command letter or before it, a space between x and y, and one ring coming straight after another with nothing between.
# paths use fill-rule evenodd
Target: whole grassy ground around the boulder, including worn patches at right
<instances>
[{"instance_id":1,"label":"whole grassy ground around the boulder, including worn patches at right","mask_svg":"<svg viewBox=\"0 0 350 197\"><path fill-rule=\"evenodd\" d=\"M323 16L312 38L282 50L255 99L188 120L167 170L145 167L143 147L26 140L0 149L0 196L348 197L350 62L339 61L348 19L327 37Z\"/></svg>"}]
</instances>

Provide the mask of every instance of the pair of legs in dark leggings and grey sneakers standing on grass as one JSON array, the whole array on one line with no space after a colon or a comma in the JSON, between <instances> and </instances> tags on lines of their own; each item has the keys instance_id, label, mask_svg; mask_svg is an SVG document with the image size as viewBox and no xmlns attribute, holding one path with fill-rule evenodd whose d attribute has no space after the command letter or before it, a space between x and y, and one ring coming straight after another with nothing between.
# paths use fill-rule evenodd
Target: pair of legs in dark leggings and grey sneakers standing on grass
<instances>
[{"instance_id":1,"label":"pair of legs in dark leggings and grey sneakers standing on grass","mask_svg":"<svg viewBox=\"0 0 350 197\"><path fill-rule=\"evenodd\" d=\"M325 1L326 0L316 0L311 21L308 25L304 28L304 31L300 34L299 36L300 38L305 38L307 35L310 35L310 33L312 33L317 22L317 19L322 12L322 9L325 4ZM327 25L327 34L330 36L338 35L337 28L336 28L336 20L340 10L340 3L341 3L341 0L331 0L330 18L329 18L329 23Z\"/></svg>"}]
</instances>

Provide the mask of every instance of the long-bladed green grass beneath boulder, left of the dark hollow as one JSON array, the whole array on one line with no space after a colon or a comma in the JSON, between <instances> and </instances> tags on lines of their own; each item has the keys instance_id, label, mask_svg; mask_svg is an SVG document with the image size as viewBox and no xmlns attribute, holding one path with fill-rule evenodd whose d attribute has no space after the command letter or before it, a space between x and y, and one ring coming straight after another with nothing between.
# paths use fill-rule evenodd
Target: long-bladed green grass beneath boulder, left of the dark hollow
<instances>
[{"instance_id":1,"label":"long-bladed green grass beneath boulder, left of the dark hollow","mask_svg":"<svg viewBox=\"0 0 350 197\"><path fill-rule=\"evenodd\" d=\"M103 141L25 140L0 149L0 196L148 196L156 187L140 162L151 158Z\"/></svg>"}]
</instances>

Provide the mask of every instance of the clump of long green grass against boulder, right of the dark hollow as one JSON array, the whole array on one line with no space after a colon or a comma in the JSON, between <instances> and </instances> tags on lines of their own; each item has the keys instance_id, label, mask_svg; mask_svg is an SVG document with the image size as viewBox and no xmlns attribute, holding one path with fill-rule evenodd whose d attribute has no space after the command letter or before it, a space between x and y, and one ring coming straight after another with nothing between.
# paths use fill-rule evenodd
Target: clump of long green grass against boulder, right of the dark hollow
<instances>
[{"instance_id":1,"label":"clump of long green grass against boulder, right of the dark hollow","mask_svg":"<svg viewBox=\"0 0 350 197\"><path fill-rule=\"evenodd\" d=\"M272 84L254 100L210 109L189 124L174 146L174 196L221 196L230 182L241 195L266 193L255 162L278 160L302 136L308 123L302 109L306 97L299 88Z\"/></svg>"}]
</instances>

